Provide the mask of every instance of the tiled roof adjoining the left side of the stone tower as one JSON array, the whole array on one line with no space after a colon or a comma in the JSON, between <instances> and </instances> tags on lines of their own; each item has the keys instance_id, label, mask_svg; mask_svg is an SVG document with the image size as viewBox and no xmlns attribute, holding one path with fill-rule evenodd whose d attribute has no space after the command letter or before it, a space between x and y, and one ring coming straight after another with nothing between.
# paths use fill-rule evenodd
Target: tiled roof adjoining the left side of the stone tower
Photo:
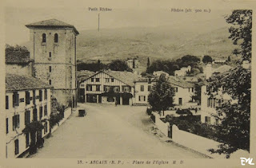
<instances>
[{"instance_id":1,"label":"tiled roof adjoining the left side of the stone tower","mask_svg":"<svg viewBox=\"0 0 256 168\"><path fill-rule=\"evenodd\" d=\"M33 61L30 59L30 53L24 52L21 53L19 51L12 51L6 53L6 64L23 64L23 63L29 63L30 61Z\"/></svg>"}]
</instances>

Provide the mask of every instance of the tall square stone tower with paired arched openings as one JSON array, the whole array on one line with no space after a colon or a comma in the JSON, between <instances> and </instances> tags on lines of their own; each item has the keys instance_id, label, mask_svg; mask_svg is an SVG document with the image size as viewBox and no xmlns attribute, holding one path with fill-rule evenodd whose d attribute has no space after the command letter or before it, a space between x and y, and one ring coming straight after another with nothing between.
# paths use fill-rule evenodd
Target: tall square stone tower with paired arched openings
<instances>
[{"instance_id":1,"label":"tall square stone tower with paired arched openings","mask_svg":"<svg viewBox=\"0 0 256 168\"><path fill-rule=\"evenodd\" d=\"M76 107L77 64L74 25L56 19L26 25L30 29L30 58L34 77L51 84L52 95L65 106Z\"/></svg>"}]
</instances>

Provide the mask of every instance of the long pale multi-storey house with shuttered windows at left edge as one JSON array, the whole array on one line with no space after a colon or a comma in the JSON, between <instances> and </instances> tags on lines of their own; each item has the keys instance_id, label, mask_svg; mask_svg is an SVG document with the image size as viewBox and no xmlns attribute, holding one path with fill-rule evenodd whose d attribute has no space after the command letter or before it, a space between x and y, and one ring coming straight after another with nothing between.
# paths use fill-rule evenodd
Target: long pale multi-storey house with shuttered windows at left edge
<instances>
[{"instance_id":1,"label":"long pale multi-storey house with shuttered windows at left edge","mask_svg":"<svg viewBox=\"0 0 256 168\"><path fill-rule=\"evenodd\" d=\"M32 140L50 133L50 88L32 76L6 73L6 158L21 157ZM22 133L35 120L42 121L42 131Z\"/></svg>"}]
</instances>

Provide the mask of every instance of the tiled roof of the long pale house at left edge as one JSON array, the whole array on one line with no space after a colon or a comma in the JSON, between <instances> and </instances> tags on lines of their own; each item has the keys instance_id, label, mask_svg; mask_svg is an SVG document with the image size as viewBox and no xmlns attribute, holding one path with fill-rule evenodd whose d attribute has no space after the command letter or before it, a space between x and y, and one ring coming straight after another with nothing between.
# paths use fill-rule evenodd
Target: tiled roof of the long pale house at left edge
<instances>
[{"instance_id":1,"label":"tiled roof of the long pale house at left edge","mask_svg":"<svg viewBox=\"0 0 256 168\"><path fill-rule=\"evenodd\" d=\"M39 88L53 88L32 76L22 76L12 73L6 73L6 91L30 90Z\"/></svg>"}]
</instances>

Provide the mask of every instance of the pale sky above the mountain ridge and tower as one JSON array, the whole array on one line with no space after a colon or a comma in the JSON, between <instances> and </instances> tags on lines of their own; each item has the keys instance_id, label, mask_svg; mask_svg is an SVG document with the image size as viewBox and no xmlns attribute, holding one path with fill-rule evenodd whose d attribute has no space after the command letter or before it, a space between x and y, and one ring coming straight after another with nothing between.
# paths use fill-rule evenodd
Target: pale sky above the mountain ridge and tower
<instances>
[{"instance_id":1,"label":"pale sky above the mountain ridge and tower","mask_svg":"<svg viewBox=\"0 0 256 168\"><path fill-rule=\"evenodd\" d=\"M56 5L54 2L59 3ZM10 0L4 11L6 43L16 45L29 41L29 29L25 25L51 18L74 25L78 31L98 29L98 14L100 14L101 29L165 25L182 28L181 31L186 29L186 31L193 33L194 31L206 29L210 31L225 27L227 23L224 16L231 14L231 10L223 9L221 4L217 7L209 7L206 4L196 6L195 3L186 2L183 4L175 0L171 1L173 3L157 3L151 0L147 1L151 3L146 3L144 0L132 0L125 3L123 1L108 1L108 3L106 1L85 1L82 4L76 3L77 0L73 3L62 0L54 2L49 2L52 6L49 4L40 6L34 1L28 4L17 4ZM112 11L89 11L89 7L107 7L111 8ZM172 8L183 10L190 8L193 12L171 12ZM210 13L194 13L195 9L207 9L210 10Z\"/></svg>"}]
</instances>

